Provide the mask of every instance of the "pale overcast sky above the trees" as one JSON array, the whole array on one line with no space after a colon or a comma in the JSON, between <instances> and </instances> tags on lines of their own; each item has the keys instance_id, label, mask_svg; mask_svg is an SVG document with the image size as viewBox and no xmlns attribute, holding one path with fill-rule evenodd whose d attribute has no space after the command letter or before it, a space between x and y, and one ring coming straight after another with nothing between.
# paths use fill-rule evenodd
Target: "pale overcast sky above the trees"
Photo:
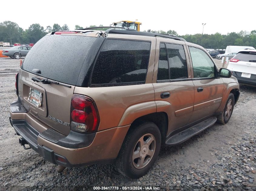
<instances>
[{"instance_id":1,"label":"pale overcast sky above the trees","mask_svg":"<svg viewBox=\"0 0 256 191\"><path fill-rule=\"evenodd\" d=\"M126 2L126 3L125 3ZM16 6L18 5L18 6ZM0 22L13 21L23 29L67 24L74 29L90 25L109 26L122 20L142 22L141 30L175 30L179 35L256 30L256 0L247 1L1 1Z\"/></svg>"}]
</instances>

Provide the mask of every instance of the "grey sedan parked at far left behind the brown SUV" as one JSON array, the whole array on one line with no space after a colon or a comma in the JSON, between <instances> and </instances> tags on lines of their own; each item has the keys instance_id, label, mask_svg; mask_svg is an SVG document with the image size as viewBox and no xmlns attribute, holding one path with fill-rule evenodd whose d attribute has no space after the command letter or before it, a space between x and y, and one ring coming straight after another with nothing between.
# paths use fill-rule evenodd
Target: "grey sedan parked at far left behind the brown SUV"
<instances>
[{"instance_id":1,"label":"grey sedan parked at far left behind the brown SUV","mask_svg":"<svg viewBox=\"0 0 256 191\"><path fill-rule=\"evenodd\" d=\"M4 49L3 55L20 59L22 56L26 56L31 48L31 46L13 46L10 49Z\"/></svg>"}]
</instances>

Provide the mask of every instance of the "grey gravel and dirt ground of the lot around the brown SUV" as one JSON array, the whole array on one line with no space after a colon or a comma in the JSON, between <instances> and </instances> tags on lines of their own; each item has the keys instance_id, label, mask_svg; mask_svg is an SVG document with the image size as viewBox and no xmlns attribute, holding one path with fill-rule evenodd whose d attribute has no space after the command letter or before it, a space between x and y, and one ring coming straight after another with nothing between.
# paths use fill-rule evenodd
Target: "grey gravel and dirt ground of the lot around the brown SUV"
<instances>
[{"instance_id":1,"label":"grey gravel and dirt ground of the lot around the brown SUV","mask_svg":"<svg viewBox=\"0 0 256 191\"><path fill-rule=\"evenodd\" d=\"M220 60L217 65L221 66ZM0 71L19 60L0 58ZM9 124L17 99L15 76L0 76L0 190L92 190L91 186L157 186L161 190L256 190L256 88L241 86L228 124L214 126L181 145L161 148L153 168L130 180L112 165L67 168L62 173L32 149L24 150Z\"/></svg>"}]
</instances>

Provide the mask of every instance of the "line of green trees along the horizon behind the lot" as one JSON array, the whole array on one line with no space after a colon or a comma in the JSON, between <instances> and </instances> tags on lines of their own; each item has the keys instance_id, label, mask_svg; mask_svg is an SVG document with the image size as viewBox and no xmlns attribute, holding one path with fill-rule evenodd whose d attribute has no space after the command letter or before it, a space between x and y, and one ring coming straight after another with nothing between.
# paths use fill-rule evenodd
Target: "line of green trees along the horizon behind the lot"
<instances>
[{"instance_id":1,"label":"line of green trees along the horizon behind the lot","mask_svg":"<svg viewBox=\"0 0 256 191\"><path fill-rule=\"evenodd\" d=\"M96 25L90 25L90 27L96 27ZM103 25L99 25L103 27ZM82 29L79 25L75 25L76 29ZM106 30L107 28L101 28L100 30ZM22 29L17 23L12 21L4 21L0 23L0 41L13 43L36 43L45 34L55 32L58 30L69 30L67 24L60 26L55 23L53 26L42 27L40 24L35 23L30 25L28 29ZM163 34L175 34L178 33L175 30L151 30L152 33ZM228 34L186 34L179 37L184 38L186 41L203 46L204 48L211 49L225 49L227 46L253 46L256 47L256 30L251 32L241 30L238 33L232 32Z\"/></svg>"}]
</instances>

